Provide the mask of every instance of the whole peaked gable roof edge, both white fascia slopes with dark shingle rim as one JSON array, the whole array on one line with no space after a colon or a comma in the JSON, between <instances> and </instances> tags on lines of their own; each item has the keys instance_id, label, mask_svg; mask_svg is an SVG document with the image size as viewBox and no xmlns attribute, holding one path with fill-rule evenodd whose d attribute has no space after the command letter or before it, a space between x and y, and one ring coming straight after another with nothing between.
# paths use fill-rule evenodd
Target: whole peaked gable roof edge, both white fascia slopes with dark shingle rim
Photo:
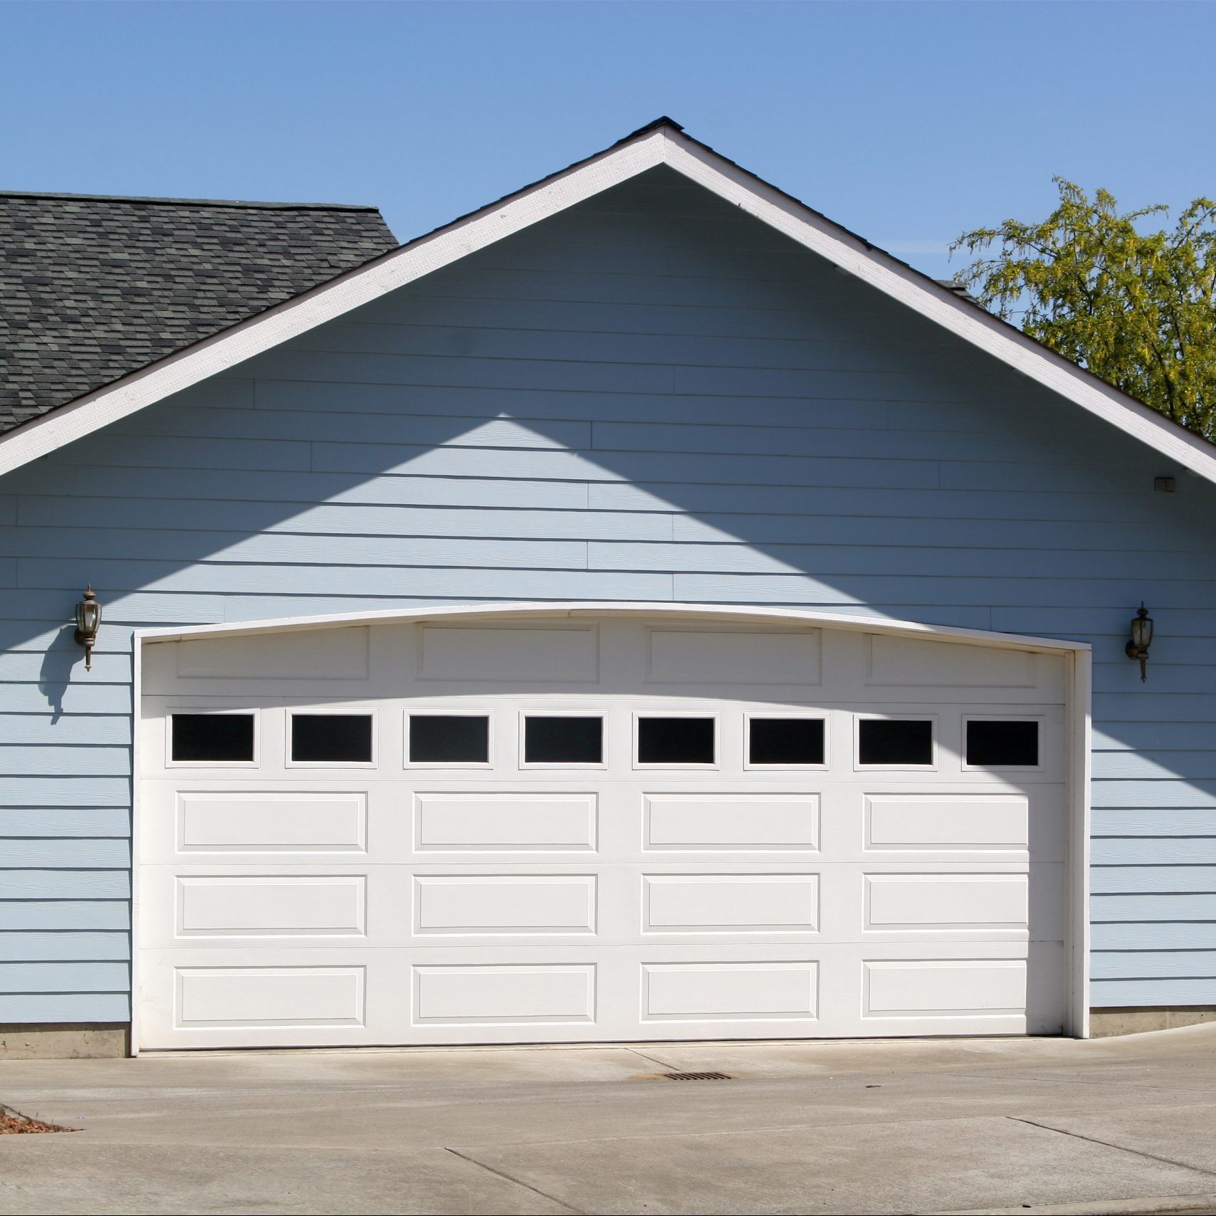
<instances>
[{"instance_id":1,"label":"whole peaked gable roof edge, both white fascia slopes with dark shingle rim","mask_svg":"<svg viewBox=\"0 0 1216 1216\"><path fill-rule=\"evenodd\" d=\"M0 473L18 468L660 164L1118 427L1182 468L1216 483L1216 445L992 316L959 294L955 285L940 283L914 270L692 139L670 118L655 119L603 152L344 271L223 333L203 338L105 388L30 418L0 435Z\"/></svg>"}]
</instances>

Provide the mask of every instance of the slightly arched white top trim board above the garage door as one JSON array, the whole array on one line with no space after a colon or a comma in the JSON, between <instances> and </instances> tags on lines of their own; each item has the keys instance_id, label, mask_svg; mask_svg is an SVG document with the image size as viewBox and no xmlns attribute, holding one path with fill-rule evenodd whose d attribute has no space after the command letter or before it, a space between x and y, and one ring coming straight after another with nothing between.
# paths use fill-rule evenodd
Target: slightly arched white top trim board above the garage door
<instances>
[{"instance_id":1,"label":"slightly arched white top trim board above the garage door","mask_svg":"<svg viewBox=\"0 0 1216 1216\"><path fill-rule=\"evenodd\" d=\"M942 642L961 642L970 646L1001 647L1004 649L1035 649L1060 652L1088 652L1088 642L1069 642L1055 637L1032 637L1025 634L998 634L987 629L963 629L953 625L927 625L916 620L895 620L888 617L860 617L846 613L826 612L816 608L741 608L731 604L691 604L666 599L660 601L573 601L554 604L545 599L506 601L497 604L440 604L434 608L373 608L359 613L333 613L319 617L278 617L269 620L229 621L220 625L151 625L134 630L137 642L181 642L196 637L233 637L270 632L302 632L313 629L343 629L355 625L393 625L411 621L462 618L501 619L570 618L580 617L709 617L715 620L753 623L804 624L840 629L852 632L886 634L902 637L922 637Z\"/></svg>"}]
</instances>

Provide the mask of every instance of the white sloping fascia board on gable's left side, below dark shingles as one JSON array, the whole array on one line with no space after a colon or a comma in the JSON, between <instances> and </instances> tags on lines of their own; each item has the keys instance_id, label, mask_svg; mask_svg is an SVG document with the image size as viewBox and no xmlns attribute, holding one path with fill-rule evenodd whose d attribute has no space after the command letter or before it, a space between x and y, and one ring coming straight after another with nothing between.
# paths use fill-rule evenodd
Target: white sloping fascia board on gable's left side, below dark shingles
<instances>
[{"instance_id":1,"label":"white sloping fascia board on gable's left side, below dark shingles","mask_svg":"<svg viewBox=\"0 0 1216 1216\"><path fill-rule=\"evenodd\" d=\"M0 474L227 371L663 163L663 131L610 148L0 435Z\"/></svg>"}]
</instances>

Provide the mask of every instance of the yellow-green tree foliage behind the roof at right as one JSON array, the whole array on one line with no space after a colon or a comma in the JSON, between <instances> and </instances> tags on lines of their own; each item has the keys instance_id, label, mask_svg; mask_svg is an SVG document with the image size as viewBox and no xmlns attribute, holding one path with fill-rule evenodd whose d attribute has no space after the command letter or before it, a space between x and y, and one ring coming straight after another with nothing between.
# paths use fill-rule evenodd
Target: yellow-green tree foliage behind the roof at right
<instances>
[{"instance_id":1,"label":"yellow-green tree foliage behind the roof at right","mask_svg":"<svg viewBox=\"0 0 1216 1216\"><path fill-rule=\"evenodd\" d=\"M958 277L997 316L1192 430L1216 439L1216 203L1197 198L1169 230L1165 204L1119 213L1057 178L1038 224L1006 220L952 246L996 247Z\"/></svg>"}]
</instances>

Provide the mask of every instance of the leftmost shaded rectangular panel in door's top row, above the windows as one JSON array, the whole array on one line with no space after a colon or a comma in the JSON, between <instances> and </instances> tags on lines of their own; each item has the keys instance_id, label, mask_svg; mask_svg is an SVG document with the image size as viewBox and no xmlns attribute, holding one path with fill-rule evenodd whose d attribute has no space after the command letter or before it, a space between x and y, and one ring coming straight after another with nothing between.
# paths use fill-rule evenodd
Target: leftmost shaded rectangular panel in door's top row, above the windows
<instances>
[{"instance_id":1,"label":"leftmost shaded rectangular panel in door's top row, above the windows","mask_svg":"<svg viewBox=\"0 0 1216 1216\"><path fill-rule=\"evenodd\" d=\"M367 626L178 642L178 675L207 680L364 680Z\"/></svg>"}]
</instances>

